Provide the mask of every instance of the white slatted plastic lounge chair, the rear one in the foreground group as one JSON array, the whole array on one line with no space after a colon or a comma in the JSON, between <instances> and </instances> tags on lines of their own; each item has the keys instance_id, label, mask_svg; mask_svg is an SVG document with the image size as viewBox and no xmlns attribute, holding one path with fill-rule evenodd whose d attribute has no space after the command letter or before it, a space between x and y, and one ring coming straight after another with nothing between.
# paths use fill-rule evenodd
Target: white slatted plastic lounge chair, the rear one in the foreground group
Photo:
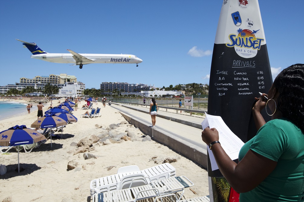
<instances>
[{"instance_id":1,"label":"white slatted plastic lounge chair, the rear one in the foreground group","mask_svg":"<svg viewBox=\"0 0 304 202\"><path fill-rule=\"evenodd\" d=\"M98 194L119 189L123 177L132 174L144 174L144 176L147 176L150 181L162 180L176 176L175 168L169 163L160 164L141 171L136 165L125 166L119 168L117 174L92 180L90 183L91 196L95 193Z\"/></svg>"}]
</instances>

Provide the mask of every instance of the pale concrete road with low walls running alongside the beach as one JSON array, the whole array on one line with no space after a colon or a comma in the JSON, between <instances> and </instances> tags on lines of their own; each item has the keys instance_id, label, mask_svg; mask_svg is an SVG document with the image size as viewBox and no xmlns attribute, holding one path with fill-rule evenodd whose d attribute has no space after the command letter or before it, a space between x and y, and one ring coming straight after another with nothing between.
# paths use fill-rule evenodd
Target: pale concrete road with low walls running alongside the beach
<instances>
[{"instance_id":1,"label":"pale concrete road with low walls running alongside the beach","mask_svg":"<svg viewBox=\"0 0 304 202\"><path fill-rule=\"evenodd\" d=\"M207 147L201 138L203 118L158 110L156 127L151 128L148 107L118 103L106 107L116 108L129 123L153 140L207 168Z\"/></svg>"}]
</instances>

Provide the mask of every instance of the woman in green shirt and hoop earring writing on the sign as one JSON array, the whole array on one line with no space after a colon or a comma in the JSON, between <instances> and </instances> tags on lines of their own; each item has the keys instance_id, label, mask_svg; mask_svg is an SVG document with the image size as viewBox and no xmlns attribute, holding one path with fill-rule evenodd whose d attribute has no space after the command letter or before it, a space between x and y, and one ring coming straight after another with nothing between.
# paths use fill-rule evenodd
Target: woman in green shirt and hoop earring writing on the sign
<instances>
[{"instance_id":1,"label":"woman in green shirt and hoop earring writing on the sign","mask_svg":"<svg viewBox=\"0 0 304 202\"><path fill-rule=\"evenodd\" d=\"M212 145L219 170L240 193L241 202L303 201L304 64L284 69L268 94L255 99L257 135L241 148L238 164L220 144ZM261 115L264 108L271 116L267 123ZM215 128L205 128L202 140L206 144L218 141L219 134Z\"/></svg>"}]
</instances>

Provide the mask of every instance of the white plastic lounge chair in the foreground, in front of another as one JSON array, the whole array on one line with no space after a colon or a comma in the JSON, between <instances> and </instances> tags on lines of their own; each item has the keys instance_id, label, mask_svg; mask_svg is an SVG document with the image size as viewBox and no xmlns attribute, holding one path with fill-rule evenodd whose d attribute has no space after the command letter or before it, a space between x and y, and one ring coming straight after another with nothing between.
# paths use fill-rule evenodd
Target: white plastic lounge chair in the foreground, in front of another
<instances>
[{"instance_id":1,"label":"white plastic lounge chair in the foreground, in front of another","mask_svg":"<svg viewBox=\"0 0 304 202\"><path fill-rule=\"evenodd\" d=\"M171 177L169 179L153 181L148 185L130 187L122 190L113 190L109 192L94 194L93 201L102 202L135 202L162 196L182 191L181 199L186 187L191 187L194 184L185 176Z\"/></svg>"}]
</instances>

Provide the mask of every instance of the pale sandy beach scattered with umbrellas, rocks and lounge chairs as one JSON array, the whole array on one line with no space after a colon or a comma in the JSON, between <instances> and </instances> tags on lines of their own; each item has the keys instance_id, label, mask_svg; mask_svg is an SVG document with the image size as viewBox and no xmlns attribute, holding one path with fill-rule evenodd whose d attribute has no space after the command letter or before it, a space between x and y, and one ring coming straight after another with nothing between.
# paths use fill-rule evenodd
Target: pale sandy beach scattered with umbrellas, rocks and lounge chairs
<instances>
[{"instance_id":1,"label":"pale sandy beach scattered with umbrellas, rocks and lounge chairs","mask_svg":"<svg viewBox=\"0 0 304 202\"><path fill-rule=\"evenodd\" d=\"M62 100L63 101L63 100ZM56 106L56 101L53 106ZM80 107L85 104L82 101ZM37 104L34 104L37 105ZM43 112L50 103L44 104ZM188 177L194 186L185 189L183 199L209 195L207 171L195 162L177 154L165 145L155 141L141 141L146 135L126 120L116 109L102 103L93 105L101 108L101 117L81 118L85 110L78 108L73 114L78 122L64 128L62 138L48 140L31 153L19 153L20 166L25 170L18 173L18 153L11 149L9 154L0 155L0 164L5 164L7 173L0 176L0 201L90 201L90 182L93 179L116 174L119 167L137 165L140 170L157 165L154 158L176 158L171 165L176 174ZM36 108L37 109L37 108ZM149 117L147 117L149 118ZM37 119L37 110L30 114L0 121L0 131L15 125L30 125ZM108 131L110 124L120 124L114 130L126 133L126 129L136 134L137 141L123 141L116 144L93 144L89 153L96 158L84 159L84 153L75 154L77 143L92 135ZM61 135L60 133L56 133ZM77 167L67 169L67 164L74 161ZM11 197L10 199L8 197ZM9 199L9 200L8 200Z\"/></svg>"}]
</instances>

